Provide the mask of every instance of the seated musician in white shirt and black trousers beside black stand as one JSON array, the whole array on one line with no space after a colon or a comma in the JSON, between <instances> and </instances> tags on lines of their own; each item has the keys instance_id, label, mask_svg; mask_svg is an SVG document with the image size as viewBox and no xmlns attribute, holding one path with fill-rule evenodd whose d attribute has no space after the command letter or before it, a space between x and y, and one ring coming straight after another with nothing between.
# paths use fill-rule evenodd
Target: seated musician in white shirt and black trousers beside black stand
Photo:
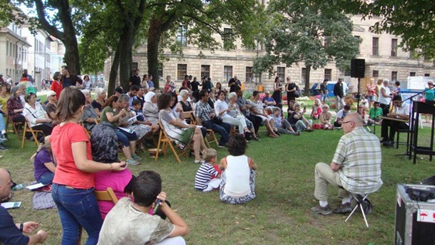
<instances>
[{"instance_id":1,"label":"seated musician in white shirt and black trousers beside black stand","mask_svg":"<svg viewBox=\"0 0 435 245\"><path fill-rule=\"evenodd\" d=\"M402 96L396 95L392 99L392 103L395 106L396 110L394 113L389 113L387 116L396 117L398 119L409 120L409 105L403 103ZM390 135L388 136L388 126L390 127ZM395 120L382 120L381 127L381 143L384 146L393 146L394 145L394 135L399 129L409 129L409 124L404 123L402 121Z\"/></svg>"}]
</instances>

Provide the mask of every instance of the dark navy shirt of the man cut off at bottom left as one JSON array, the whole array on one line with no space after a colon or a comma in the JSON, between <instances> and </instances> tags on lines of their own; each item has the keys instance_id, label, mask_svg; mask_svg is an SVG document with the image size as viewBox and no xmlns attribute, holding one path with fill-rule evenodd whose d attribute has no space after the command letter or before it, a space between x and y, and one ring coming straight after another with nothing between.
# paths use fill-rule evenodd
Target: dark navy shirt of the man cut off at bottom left
<instances>
[{"instance_id":1,"label":"dark navy shirt of the man cut off at bottom left","mask_svg":"<svg viewBox=\"0 0 435 245\"><path fill-rule=\"evenodd\" d=\"M0 243L27 245L29 237L23 235L15 226L12 216L8 211L0 206Z\"/></svg>"}]
</instances>

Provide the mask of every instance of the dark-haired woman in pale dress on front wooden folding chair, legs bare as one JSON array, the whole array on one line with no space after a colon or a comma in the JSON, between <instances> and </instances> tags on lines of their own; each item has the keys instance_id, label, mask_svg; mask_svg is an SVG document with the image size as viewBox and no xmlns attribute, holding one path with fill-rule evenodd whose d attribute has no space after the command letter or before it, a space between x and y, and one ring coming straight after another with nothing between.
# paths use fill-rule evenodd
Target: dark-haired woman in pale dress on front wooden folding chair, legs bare
<instances>
[{"instance_id":1,"label":"dark-haired woman in pale dress on front wooden folding chair, legs bare","mask_svg":"<svg viewBox=\"0 0 435 245\"><path fill-rule=\"evenodd\" d=\"M200 150L207 149L204 144L201 130L192 124L184 124L180 118L175 117L171 106L174 103L171 93L162 94L158 101L159 120L163 126L164 132L175 141L181 149L188 145L193 145L192 149L195 154L195 164L199 164Z\"/></svg>"}]
</instances>

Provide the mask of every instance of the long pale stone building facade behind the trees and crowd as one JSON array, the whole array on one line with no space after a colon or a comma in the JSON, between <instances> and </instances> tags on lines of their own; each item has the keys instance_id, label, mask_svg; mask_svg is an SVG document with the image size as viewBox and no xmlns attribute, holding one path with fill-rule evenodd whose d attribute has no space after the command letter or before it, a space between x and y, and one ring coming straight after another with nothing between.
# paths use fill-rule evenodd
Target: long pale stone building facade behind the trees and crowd
<instances>
[{"instance_id":1,"label":"long pale stone building facade behind the trees and crowd","mask_svg":"<svg viewBox=\"0 0 435 245\"><path fill-rule=\"evenodd\" d=\"M406 81L408 76L435 76L435 67L432 61L424 60L424 58L414 59L409 52L398 47L401 42L400 37L388 33L375 34L369 31L369 27L379 19L363 20L362 16L358 15L349 17L354 23L353 34L362 39L360 54L357 58L365 59L366 77L384 77L390 80ZM178 86L181 85L184 74L197 77L198 80L205 75L210 77L214 84L220 82L222 85L226 85L229 78L237 75L245 90L252 91L259 89L258 86L262 86L265 91L273 90L275 75L279 75L283 81L285 81L285 77L289 76L301 89L304 87L305 68L303 63L293 64L291 67L286 67L285 64L279 65L275 67L275 75L262 74L261 77L256 78L251 69L254 58L265 53L261 45L258 45L256 49L245 49L242 47L241 40L237 40L237 48L234 50L217 49L211 52L189 45L183 33L185 30L181 27L177 40L185 44L183 57L171 54L169 49L164 50L164 56L168 60L161 64L159 70L160 85L164 83L163 79L167 75L170 75ZM224 42L220 36L215 37L223 45ZM110 65L111 59L106 60L105 79L107 81L109 80ZM148 73L146 44L140 46L134 53L133 68L138 68L141 75ZM350 85L351 92L357 90L357 79L350 78L349 74L343 74L336 68L334 62L328 63L323 68L311 70L310 87L321 82L324 78L335 81L339 77L344 77Z\"/></svg>"}]
</instances>

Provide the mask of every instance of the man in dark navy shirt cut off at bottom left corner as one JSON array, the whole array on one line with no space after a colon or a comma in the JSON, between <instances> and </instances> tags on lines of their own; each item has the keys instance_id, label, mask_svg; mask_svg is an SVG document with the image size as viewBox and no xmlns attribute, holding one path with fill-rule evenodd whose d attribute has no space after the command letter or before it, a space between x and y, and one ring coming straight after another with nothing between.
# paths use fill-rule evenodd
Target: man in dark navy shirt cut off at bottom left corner
<instances>
[{"instance_id":1,"label":"man in dark navy shirt cut off at bottom left corner","mask_svg":"<svg viewBox=\"0 0 435 245\"><path fill-rule=\"evenodd\" d=\"M11 175L5 169L0 168L0 200L11 193ZM47 232L39 230L35 235L25 236L25 233L32 233L38 227L38 223L29 221L25 223L14 223L8 211L0 206L0 243L27 245L43 243L47 239Z\"/></svg>"}]
</instances>

